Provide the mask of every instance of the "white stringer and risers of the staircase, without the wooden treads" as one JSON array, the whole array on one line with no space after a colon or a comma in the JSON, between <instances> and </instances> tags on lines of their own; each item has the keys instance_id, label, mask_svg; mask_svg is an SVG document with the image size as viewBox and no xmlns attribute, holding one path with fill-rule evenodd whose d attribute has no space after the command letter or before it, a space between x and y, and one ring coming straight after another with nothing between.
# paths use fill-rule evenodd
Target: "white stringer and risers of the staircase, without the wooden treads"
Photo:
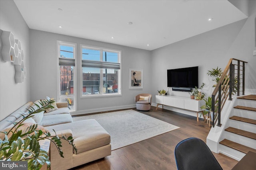
<instances>
[{"instance_id":1,"label":"white stringer and risers of the staircase, without the wooden treads","mask_svg":"<svg viewBox=\"0 0 256 170\"><path fill-rule=\"evenodd\" d=\"M232 104L227 104L227 102L232 102ZM236 133L225 131L225 129L228 127L234 127L236 129L241 129L244 131L256 133L256 125L252 123L246 123L243 121L236 121L233 119L229 119L229 117L232 117L232 116L239 116L239 117L244 117L248 119L256 119L255 111L233 108L234 106L255 107L256 101L233 98L233 101L227 101L227 102L222 109L222 113L226 114L226 115L222 114L222 117L221 117L222 127L211 128L210 133L208 134L208 137L206 139L206 144L213 152L225 154L226 156L229 156L239 161L244 157L245 153L240 152L236 149L232 149L225 145L222 145L219 142L224 139L227 139L235 143L244 145L246 147L256 149L255 139L251 139L248 137L244 137L242 135L238 135ZM227 109L228 112L223 112L225 107L229 108Z\"/></svg>"}]
</instances>

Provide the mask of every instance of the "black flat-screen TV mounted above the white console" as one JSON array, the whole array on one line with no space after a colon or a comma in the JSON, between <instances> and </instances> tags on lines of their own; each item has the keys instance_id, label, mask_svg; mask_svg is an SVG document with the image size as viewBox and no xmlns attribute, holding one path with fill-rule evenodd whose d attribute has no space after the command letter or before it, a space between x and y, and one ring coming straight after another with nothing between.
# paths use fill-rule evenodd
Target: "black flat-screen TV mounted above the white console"
<instances>
[{"instance_id":1,"label":"black flat-screen TV mounted above the white console","mask_svg":"<svg viewBox=\"0 0 256 170\"><path fill-rule=\"evenodd\" d=\"M198 87L198 66L167 70L167 86L183 88Z\"/></svg>"}]
</instances>

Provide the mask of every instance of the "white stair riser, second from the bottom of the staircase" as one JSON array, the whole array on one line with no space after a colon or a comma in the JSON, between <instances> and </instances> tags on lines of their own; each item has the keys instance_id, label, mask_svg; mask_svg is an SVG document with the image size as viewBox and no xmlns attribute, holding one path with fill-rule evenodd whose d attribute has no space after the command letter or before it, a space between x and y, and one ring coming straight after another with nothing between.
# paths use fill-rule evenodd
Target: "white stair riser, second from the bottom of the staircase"
<instances>
[{"instance_id":1,"label":"white stair riser, second from the bottom of the staircase","mask_svg":"<svg viewBox=\"0 0 256 170\"><path fill-rule=\"evenodd\" d=\"M244 145L246 147L256 149L256 140L255 139L251 139L251 138L248 138L248 137L237 135L235 133L231 133L231 132L228 132L228 131L224 131L220 141L222 141L223 139L228 139L230 141L233 141L235 143L239 143L239 144Z\"/></svg>"}]
</instances>

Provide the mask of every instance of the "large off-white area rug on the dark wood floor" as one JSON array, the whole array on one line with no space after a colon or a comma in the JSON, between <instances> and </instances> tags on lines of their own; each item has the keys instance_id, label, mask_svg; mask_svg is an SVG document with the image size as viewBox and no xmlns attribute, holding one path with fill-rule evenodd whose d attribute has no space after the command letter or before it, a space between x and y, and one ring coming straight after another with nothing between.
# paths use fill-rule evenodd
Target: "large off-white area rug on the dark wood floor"
<instances>
[{"instance_id":1,"label":"large off-white area rug on the dark wood floor","mask_svg":"<svg viewBox=\"0 0 256 170\"><path fill-rule=\"evenodd\" d=\"M134 110L73 117L74 121L85 119L95 119L110 134L112 150L179 128Z\"/></svg>"}]
</instances>

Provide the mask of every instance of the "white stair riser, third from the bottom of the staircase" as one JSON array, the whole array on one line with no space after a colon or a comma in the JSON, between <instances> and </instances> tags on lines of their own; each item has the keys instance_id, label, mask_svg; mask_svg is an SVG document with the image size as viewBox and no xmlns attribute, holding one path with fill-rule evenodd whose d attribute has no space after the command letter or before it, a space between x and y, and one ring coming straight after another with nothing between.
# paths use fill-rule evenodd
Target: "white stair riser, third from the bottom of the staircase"
<instances>
[{"instance_id":1,"label":"white stair riser, third from the bottom of the staircase","mask_svg":"<svg viewBox=\"0 0 256 170\"><path fill-rule=\"evenodd\" d=\"M236 120L230 119L230 121L228 121L228 123L226 124L226 127L234 127L236 129L241 129L244 131L256 133L256 125L251 123L245 123L242 121L236 121Z\"/></svg>"}]
</instances>

